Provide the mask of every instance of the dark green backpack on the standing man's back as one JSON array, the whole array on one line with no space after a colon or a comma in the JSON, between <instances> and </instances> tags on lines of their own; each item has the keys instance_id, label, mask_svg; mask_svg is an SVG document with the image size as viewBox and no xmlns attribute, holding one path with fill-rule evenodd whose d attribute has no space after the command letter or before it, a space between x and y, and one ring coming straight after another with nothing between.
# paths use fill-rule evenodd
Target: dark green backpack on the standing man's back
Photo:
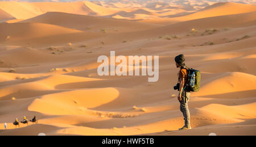
<instances>
[{"instance_id":1,"label":"dark green backpack on the standing man's back","mask_svg":"<svg viewBox=\"0 0 256 147\"><path fill-rule=\"evenodd\" d=\"M188 71L188 81L185 83L185 89L189 91L199 91L200 89L200 81L201 81L201 73L199 70L192 69L192 68L184 68ZM195 73L195 86L193 86L193 83L191 81L193 80L193 73Z\"/></svg>"}]
</instances>

